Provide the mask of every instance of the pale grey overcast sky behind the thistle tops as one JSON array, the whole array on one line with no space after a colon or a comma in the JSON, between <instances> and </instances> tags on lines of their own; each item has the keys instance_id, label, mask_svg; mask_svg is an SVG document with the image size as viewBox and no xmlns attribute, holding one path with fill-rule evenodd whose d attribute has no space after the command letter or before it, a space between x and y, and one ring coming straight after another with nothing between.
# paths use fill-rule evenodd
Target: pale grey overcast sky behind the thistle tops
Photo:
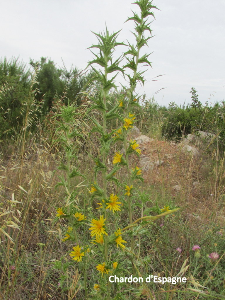
<instances>
[{"instance_id":1,"label":"pale grey overcast sky behind the thistle tops","mask_svg":"<svg viewBox=\"0 0 225 300\"><path fill-rule=\"evenodd\" d=\"M120 29L118 41L133 41L130 0L1 0L0 56L26 63L48 56L67 68L87 66L94 32ZM190 103L194 87L202 103L225 100L225 0L156 0L144 88L160 105ZM152 20L151 18L149 20ZM117 50L117 55L122 49ZM157 77L164 74L164 76ZM158 81L154 81L157 77ZM158 93L156 93L160 90ZM156 94L155 94L156 93Z\"/></svg>"}]
</instances>

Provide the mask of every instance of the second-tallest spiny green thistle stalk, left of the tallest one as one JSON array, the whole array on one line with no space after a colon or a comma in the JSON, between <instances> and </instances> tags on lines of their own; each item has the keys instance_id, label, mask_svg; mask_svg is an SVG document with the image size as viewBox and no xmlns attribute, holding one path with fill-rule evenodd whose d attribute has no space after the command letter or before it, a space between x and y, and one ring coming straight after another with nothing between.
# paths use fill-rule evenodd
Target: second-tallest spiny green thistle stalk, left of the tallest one
<instances>
[{"instance_id":1,"label":"second-tallest spiny green thistle stalk, left of the tallest one","mask_svg":"<svg viewBox=\"0 0 225 300\"><path fill-rule=\"evenodd\" d=\"M103 34L94 33L98 38L98 44L92 45L89 49L97 48L99 50L98 54L95 54L95 59L90 61L88 65L91 66L93 71L95 72L92 80L96 80L102 86L102 91L100 92L99 98L91 98L93 104L89 109L89 112L92 110L98 110L102 115L102 124L99 124L98 120L93 116L91 119L95 124L95 127L92 131L96 131L100 134L101 138L101 157L98 157L96 161L95 174L101 171L102 174L102 195L100 196L106 200L107 199L107 182L112 177L110 174L107 174L107 166L106 166L106 158L110 150L110 144L113 142L112 134L114 132L107 132L107 120L119 117L117 110L118 105L115 105L110 111L107 111L107 98L109 95L109 91L112 88L116 89L116 85L114 83L114 79L116 77L112 76L110 79L108 75L113 72L123 72L122 68L119 67L120 58L113 61L112 55L116 46L123 45L123 43L116 42L116 38L118 37L118 33L113 33L110 35L107 27L106 31ZM97 70L93 65L98 65L104 69L104 71ZM118 170L117 167L114 168L114 171ZM96 177L95 177L96 180ZM104 209L105 219L107 219L107 210ZM107 238L106 238L107 239ZM107 259L107 241L105 245L104 251L105 259Z\"/></svg>"}]
</instances>

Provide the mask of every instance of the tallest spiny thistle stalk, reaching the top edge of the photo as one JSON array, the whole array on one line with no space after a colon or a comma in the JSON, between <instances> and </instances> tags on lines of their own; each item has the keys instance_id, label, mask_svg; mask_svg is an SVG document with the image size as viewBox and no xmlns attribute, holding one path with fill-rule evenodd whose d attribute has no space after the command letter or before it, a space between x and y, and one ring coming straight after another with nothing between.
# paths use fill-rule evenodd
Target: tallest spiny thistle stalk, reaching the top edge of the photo
<instances>
[{"instance_id":1,"label":"tallest spiny thistle stalk, reaching the top edge of the photo","mask_svg":"<svg viewBox=\"0 0 225 300\"><path fill-rule=\"evenodd\" d=\"M140 15L134 13L134 16L127 19L126 22L132 20L135 23L135 28L133 35L135 36L136 44L132 45L129 43L129 49L124 53L126 59L126 64L124 65L124 70L131 70L131 73L125 73L129 79L129 85L125 88L128 95L128 103L125 109L125 116L129 113L129 116L124 119L124 128L126 129L124 134L124 147L125 147L125 161L127 164L127 173L128 173L128 185L133 187L131 170L129 165L129 149L133 149L136 154L140 154L140 149L136 141L130 141L130 145L127 146L127 133L128 130L133 127L135 122L135 116L131 114L131 109L134 106L139 106L137 102L137 96L134 95L135 88L138 82L141 82L144 85L145 79L143 77L144 71L139 71L139 67L142 64L149 65L151 67L151 62L148 60L150 54L144 54L140 56L140 50L143 46L147 46L149 39L152 37L152 30L150 28L151 22L148 22L149 16L154 17L152 9L157 9L155 5L152 5L152 1L149 0L139 0L134 2L140 8ZM145 36L145 32L149 32L148 37ZM130 196L130 195L129 195ZM132 217L132 197L128 197L128 208L129 208L129 221L130 224L133 223ZM131 227L131 230L134 230ZM134 236L131 238L131 251L134 248Z\"/></svg>"}]
</instances>

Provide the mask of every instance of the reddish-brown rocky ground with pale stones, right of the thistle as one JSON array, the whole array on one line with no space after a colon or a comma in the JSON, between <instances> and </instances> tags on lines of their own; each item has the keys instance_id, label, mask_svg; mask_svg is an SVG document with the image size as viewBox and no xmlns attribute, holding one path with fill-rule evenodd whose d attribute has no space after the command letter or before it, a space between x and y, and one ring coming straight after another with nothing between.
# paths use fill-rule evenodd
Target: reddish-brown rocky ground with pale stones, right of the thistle
<instances>
[{"instance_id":1,"label":"reddish-brown rocky ground with pale stones, right of the thistle","mask_svg":"<svg viewBox=\"0 0 225 300\"><path fill-rule=\"evenodd\" d=\"M201 132L198 137L188 135L177 144L147 137L137 128L131 134L141 150L138 164L146 184L154 190L166 191L175 202L177 200L188 221L207 223L213 215L218 225L225 226L224 212L214 211L211 207L212 198L222 199L224 194L222 189L214 190L213 174L209 174L210 166L204 151L213 137L209 139Z\"/></svg>"}]
</instances>

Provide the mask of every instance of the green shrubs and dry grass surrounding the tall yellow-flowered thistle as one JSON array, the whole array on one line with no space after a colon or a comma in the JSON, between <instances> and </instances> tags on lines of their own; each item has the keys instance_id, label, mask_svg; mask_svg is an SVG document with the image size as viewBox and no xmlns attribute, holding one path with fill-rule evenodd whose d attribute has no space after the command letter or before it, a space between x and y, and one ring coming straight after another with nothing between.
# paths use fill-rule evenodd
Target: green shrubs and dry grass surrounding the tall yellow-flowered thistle
<instances>
[{"instance_id":1,"label":"green shrubs and dry grass surrounding the tall yellow-flowered thistle","mask_svg":"<svg viewBox=\"0 0 225 300\"><path fill-rule=\"evenodd\" d=\"M93 78L93 71L88 73L76 67L58 69L46 57L31 60L29 66L18 58L1 58L2 299L99 299L100 292L106 295L103 285L91 281L100 278L100 283L101 275L97 277L90 272L85 279L78 262L71 261L71 244L62 241L69 221L65 224L55 217L57 208L64 206L66 195L59 178L67 178L76 191L82 189L84 194L78 192L75 207L91 214L97 206L88 193L90 185L82 176L68 179L62 167L68 161L68 151L58 136L58 129L68 125L62 112L71 108L73 118L69 119L69 125L77 128L79 134L71 138L74 158L71 156L69 161L80 174L85 174L87 182L93 181L92 158L97 157L101 145L98 134L90 134L93 124L87 112L93 105L92 99L98 99L102 90L102 84ZM121 100L122 94L123 89L109 93L108 110ZM188 282L176 286L151 285L151 296L145 286L118 285L114 299L225 298L225 103L202 104L198 96L195 88L190 87L190 105L177 106L171 102L162 107L154 98L142 95L140 105L135 107L138 116L135 126L142 134L154 138L156 145L160 145L157 142L177 144L187 134L198 134L199 130L214 134L210 145L200 149L199 161L188 156L181 160L181 153L177 153L170 175L176 174L181 186L179 192L173 193L170 182L166 184L166 170L162 166L155 182L151 180L153 172L143 174L143 184L138 184L140 201L132 208L134 217L139 218L143 212L154 216L180 207L176 213L153 222L147 233L137 234L134 247L141 259L137 264L140 274L150 271L165 277L185 274ZM95 117L99 122L102 120L100 114ZM116 119L108 120L106 130L116 128L117 123ZM120 147L116 143L110 148L111 160ZM157 152L160 157L160 149ZM119 177L123 182L125 171L121 170ZM194 179L201 182L199 188L192 187ZM128 214L124 213L121 219L126 222ZM81 231L78 232L81 238ZM131 236L126 233L124 238L129 240ZM192 250L194 245L199 245L200 251ZM110 256L116 254L114 251ZM129 253L117 255L123 260L118 274L131 274ZM88 295L85 280L89 280Z\"/></svg>"}]
</instances>

